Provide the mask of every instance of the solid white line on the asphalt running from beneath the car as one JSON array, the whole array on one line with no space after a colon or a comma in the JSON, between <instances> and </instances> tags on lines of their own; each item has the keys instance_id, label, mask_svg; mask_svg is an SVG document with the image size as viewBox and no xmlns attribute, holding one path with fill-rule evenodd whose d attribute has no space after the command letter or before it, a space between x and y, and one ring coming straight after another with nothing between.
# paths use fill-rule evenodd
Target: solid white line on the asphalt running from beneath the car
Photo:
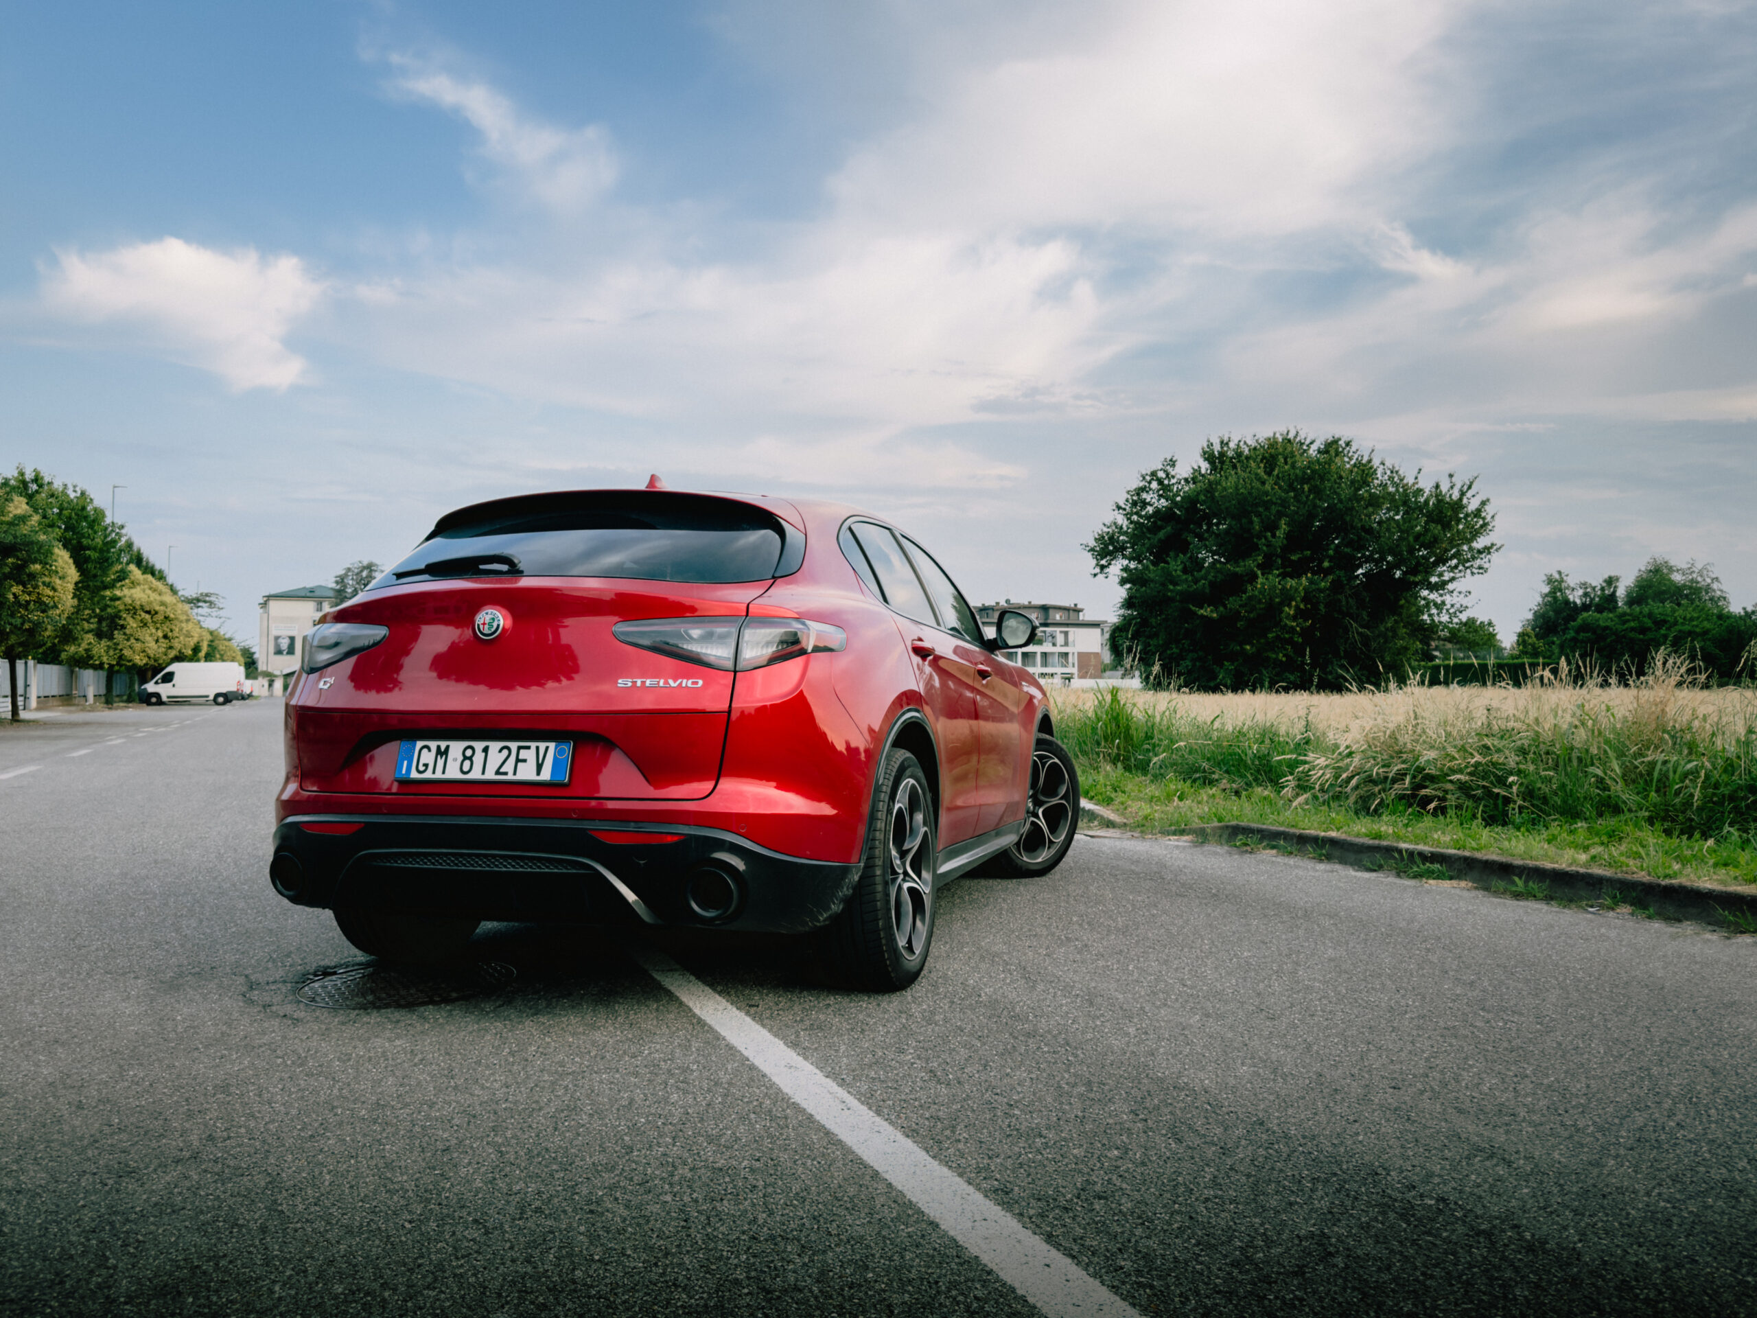
<instances>
[{"instance_id":1,"label":"solid white line on the asphalt running from beneath the car","mask_svg":"<svg viewBox=\"0 0 1757 1318\"><path fill-rule=\"evenodd\" d=\"M987 1264L1037 1309L1054 1318L1140 1314L1098 1285L1079 1264L1035 1237L1017 1218L940 1167L903 1132L859 1104L733 1003L664 952L631 949L647 974L671 989L789 1098L864 1158L908 1200L970 1253Z\"/></svg>"}]
</instances>

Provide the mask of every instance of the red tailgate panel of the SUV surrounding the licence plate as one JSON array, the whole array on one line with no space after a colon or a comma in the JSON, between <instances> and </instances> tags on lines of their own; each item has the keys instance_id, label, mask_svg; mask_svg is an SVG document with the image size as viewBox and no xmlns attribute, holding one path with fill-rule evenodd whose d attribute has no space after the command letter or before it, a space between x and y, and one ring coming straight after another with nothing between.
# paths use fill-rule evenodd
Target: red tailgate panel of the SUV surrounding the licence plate
<instances>
[{"instance_id":1,"label":"red tailgate panel of the SUV surrounding the licence plate","mask_svg":"<svg viewBox=\"0 0 1757 1318\"><path fill-rule=\"evenodd\" d=\"M420 798L698 800L713 791L733 673L634 648L634 619L743 617L770 582L464 578L372 590L330 617L390 634L306 677L300 786ZM504 626L480 640L494 608ZM573 742L566 784L397 782L406 738Z\"/></svg>"}]
</instances>

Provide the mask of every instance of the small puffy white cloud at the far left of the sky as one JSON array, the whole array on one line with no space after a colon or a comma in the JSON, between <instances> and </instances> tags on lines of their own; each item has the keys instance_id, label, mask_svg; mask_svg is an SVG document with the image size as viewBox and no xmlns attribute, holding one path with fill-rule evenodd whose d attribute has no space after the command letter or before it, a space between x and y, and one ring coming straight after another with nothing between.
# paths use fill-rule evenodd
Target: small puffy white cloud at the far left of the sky
<instances>
[{"instance_id":1,"label":"small puffy white cloud at the far left of the sky","mask_svg":"<svg viewBox=\"0 0 1757 1318\"><path fill-rule=\"evenodd\" d=\"M165 355L235 390L285 390L306 371L283 339L323 285L297 257L162 237L90 255L56 251L56 260L42 274L42 301L58 316L144 330Z\"/></svg>"}]
</instances>

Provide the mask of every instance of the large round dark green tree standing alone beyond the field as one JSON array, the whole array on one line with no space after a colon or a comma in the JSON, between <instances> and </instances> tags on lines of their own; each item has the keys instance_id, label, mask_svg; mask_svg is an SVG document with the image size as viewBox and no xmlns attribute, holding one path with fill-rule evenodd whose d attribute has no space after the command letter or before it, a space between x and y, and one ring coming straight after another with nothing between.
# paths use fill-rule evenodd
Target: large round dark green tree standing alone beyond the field
<instances>
[{"instance_id":1,"label":"large round dark green tree standing alone beyond the field","mask_svg":"<svg viewBox=\"0 0 1757 1318\"><path fill-rule=\"evenodd\" d=\"M1339 687L1427 657L1499 545L1476 482L1434 485L1348 439L1211 439L1116 504L1088 552L1119 571L1112 647L1197 687Z\"/></svg>"}]
</instances>

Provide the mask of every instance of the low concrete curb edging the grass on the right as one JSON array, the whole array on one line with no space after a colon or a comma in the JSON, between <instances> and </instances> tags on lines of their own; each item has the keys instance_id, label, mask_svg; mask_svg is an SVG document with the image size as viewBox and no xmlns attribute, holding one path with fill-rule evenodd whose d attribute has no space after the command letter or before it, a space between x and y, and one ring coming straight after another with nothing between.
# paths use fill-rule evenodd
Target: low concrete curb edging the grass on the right
<instances>
[{"instance_id":1,"label":"low concrete curb edging the grass on the right","mask_svg":"<svg viewBox=\"0 0 1757 1318\"><path fill-rule=\"evenodd\" d=\"M1543 861L1515 861L1506 856L1485 856L1474 851L1446 851L1441 847L1411 847L1402 842L1374 842L1342 833L1311 833L1300 828L1272 828L1270 824L1195 824L1186 829L1197 842L1249 842L1265 847L1286 847L1323 861L1341 861L1360 870L1392 870L1404 865L1437 865L1453 879L1474 887L1497 891L1515 880L1548 884L1553 898L1597 902L1604 893L1622 893L1625 905L1645 905L1660 919L1687 919L1711 924L1722 933L1729 921L1722 912L1743 912L1757 919L1757 893L1739 893L1699 884L1669 884L1660 879L1636 879L1606 870L1573 870L1565 865Z\"/></svg>"}]
</instances>

